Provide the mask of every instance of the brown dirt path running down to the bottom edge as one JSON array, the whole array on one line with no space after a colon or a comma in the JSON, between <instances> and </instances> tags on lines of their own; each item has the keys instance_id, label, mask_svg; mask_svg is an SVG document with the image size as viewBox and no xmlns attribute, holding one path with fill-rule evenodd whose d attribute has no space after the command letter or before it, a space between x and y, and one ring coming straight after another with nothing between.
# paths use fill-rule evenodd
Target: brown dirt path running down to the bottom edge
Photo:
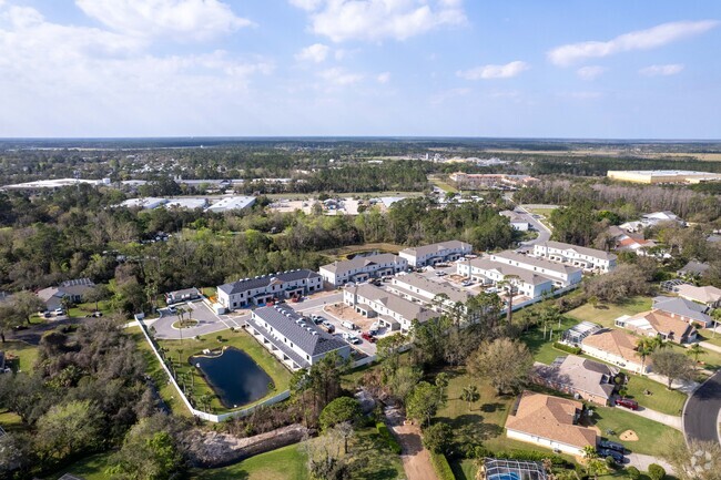
<instances>
[{"instance_id":1,"label":"brown dirt path running down to the bottom edge","mask_svg":"<svg viewBox=\"0 0 721 480\"><path fill-rule=\"evenodd\" d=\"M400 459L408 480L438 480L430 463L430 453L420 441L420 428L416 425L403 425L403 416L395 408L386 408L385 416L388 428L393 430L403 449Z\"/></svg>"}]
</instances>

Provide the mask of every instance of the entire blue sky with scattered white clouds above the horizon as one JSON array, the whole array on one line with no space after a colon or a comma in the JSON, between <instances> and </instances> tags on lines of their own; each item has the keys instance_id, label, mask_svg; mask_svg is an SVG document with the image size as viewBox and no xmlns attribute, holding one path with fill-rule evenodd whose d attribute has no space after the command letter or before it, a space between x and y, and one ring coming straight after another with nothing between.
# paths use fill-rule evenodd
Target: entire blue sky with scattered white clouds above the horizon
<instances>
[{"instance_id":1,"label":"entire blue sky with scattered white clouds above the horizon","mask_svg":"<svg viewBox=\"0 0 721 480\"><path fill-rule=\"evenodd\" d=\"M714 0L0 0L0 137L721 139Z\"/></svg>"}]
</instances>

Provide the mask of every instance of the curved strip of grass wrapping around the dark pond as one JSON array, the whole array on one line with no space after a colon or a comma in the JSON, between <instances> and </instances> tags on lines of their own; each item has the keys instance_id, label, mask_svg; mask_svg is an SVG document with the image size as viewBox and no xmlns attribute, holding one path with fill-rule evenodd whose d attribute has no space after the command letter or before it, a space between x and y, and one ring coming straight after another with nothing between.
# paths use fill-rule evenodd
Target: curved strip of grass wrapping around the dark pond
<instances>
[{"instance_id":1,"label":"curved strip of grass wrapping around the dark pond","mask_svg":"<svg viewBox=\"0 0 721 480\"><path fill-rule=\"evenodd\" d=\"M217 336L222 336L222 340L217 340ZM273 357L265 348L263 348L255 339L253 339L245 330L236 331L222 331L220 334L212 334L201 337L200 340L189 338L181 340L161 340L160 346L166 348L166 357L173 360L176 369L176 377L181 375L193 375L193 396L200 398L205 394L213 396L211 402L211 410L213 412L227 411L221 404L217 396L205 382L200 371L190 365L189 358L193 355L202 353L207 348L211 350L221 349L222 347L235 347L250 355L255 362L265 370L265 372L273 379L275 388L268 391L267 397L274 396L288 388L291 381L291 372ZM149 347L150 348L150 347ZM262 400L258 400L262 401Z\"/></svg>"}]
</instances>

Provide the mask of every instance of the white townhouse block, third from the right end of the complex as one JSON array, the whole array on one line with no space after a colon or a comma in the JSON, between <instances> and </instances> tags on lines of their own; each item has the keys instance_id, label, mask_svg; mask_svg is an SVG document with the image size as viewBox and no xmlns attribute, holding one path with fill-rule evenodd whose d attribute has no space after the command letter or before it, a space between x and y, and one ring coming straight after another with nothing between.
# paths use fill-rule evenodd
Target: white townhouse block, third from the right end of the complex
<instances>
[{"instance_id":1,"label":"white townhouse block, third from the right end of the complex","mask_svg":"<svg viewBox=\"0 0 721 480\"><path fill-rule=\"evenodd\" d=\"M545 293L554 290L554 278L529 272L527 269L494 262L489 257L474 258L457 264L458 275L469 277L483 285L497 286L500 282L508 282L516 287L520 295L538 298Z\"/></svg>"}]
</instances>

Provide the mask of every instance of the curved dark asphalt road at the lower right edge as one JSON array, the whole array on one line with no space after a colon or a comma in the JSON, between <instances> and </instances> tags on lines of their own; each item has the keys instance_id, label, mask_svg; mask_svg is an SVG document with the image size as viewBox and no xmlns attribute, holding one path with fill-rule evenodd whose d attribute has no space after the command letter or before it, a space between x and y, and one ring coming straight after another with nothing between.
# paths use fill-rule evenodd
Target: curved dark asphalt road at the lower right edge
<instances>
[{"instance_id":1,"label":"curved dark asphalt road at the lower right edge","mask_svg":"<svg viewBox=\"0 0 721 480\"><path fill-rule=\"evenodd\" d=\"M687 440L719 441L718 418L721 410L721 371L715 372L689 397L683 408Z\"/></svg>"}]
</instances>

